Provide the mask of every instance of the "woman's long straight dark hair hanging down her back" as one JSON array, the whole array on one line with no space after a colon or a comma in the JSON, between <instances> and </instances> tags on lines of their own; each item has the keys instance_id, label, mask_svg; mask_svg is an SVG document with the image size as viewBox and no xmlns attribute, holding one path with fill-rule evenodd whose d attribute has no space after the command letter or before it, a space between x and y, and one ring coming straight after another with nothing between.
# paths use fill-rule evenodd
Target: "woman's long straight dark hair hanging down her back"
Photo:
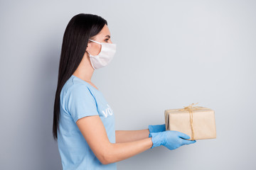
<instances>
[{"instance_id":1,"label":"woman's long straight dark hair hanging down her back","mask_svg":"<svg viewBox=\"0 0 256 170\"><path fill-rule=\"evenodd\" d=\"M53 139L58 140L60 119L60 91L65 82L78 68L85 55L88 40L100 33L107 21L97 15L80 13L73 16L65 28L58 70L58 85L55 93L53 111Z\"/></svg>"}]
</instances>

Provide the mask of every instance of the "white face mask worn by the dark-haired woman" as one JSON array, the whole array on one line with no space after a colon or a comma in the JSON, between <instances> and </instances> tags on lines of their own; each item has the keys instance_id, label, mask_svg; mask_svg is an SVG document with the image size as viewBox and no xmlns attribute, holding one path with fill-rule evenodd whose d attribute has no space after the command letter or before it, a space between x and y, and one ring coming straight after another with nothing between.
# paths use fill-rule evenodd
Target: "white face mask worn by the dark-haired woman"
<instances>
[{"instance_id":1,"label":"white face mask worn by the dark-haired woman","mask_svg":"<svg viewBox=\"0 0 256 170\"><path fill-rule=\"evenodd\" d=\"M96 42L96 43L101 45L101 50L100 50L100 53L98 55L92 56L88 52L92 67L94 69L99 69L101 67L105 67L113 59L114 54L117 50L117 45L107 43L107 42L97 42L95 40L90 40L90 41Z\"/></svg>"}]
</instances>

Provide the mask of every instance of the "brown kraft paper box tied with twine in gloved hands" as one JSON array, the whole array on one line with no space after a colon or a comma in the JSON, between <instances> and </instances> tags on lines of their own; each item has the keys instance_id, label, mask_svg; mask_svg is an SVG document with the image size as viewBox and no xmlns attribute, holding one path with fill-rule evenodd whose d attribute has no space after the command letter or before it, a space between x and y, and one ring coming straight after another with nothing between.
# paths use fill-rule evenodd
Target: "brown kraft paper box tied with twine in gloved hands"
<instances>
[{"instance_id":1,"label":"brown kraft paper box tied with twine in gloved hands","mask_svg":"<svg viewBox=\"0 0 256 170\"><path fill-rule=\"evenodd\" d=\"M210 108L190 106L164 111L166 130L189 135L189 140L216 138L215 113Z\"/></svg>"}]
</instances>

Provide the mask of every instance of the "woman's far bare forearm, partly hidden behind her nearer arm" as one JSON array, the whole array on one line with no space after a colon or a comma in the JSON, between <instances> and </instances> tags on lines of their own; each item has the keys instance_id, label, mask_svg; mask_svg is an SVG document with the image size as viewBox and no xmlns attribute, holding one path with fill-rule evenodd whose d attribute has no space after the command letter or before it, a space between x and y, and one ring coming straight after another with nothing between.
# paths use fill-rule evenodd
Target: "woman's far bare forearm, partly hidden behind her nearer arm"
<instances>
[{"instance_id":1,"label":"woman's far bare forearm, partly hidden behind her nearer arm","mask_svg":"<svg viewBox=\"0 0 256 170\"><path fill-rule=\"evenodd\" d=\"M116 130L116 143L132 142L149 138L149 129L144 130Z\"/></svg>"}]
</instances>

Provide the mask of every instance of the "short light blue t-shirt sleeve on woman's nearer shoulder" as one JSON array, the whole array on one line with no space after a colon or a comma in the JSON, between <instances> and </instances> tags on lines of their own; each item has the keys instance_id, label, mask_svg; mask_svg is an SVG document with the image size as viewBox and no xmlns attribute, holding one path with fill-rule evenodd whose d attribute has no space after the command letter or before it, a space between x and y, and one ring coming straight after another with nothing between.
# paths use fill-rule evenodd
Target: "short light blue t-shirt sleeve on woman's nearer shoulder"
<instances>
[{"instance_id":1,"label":"short light blue t-shirt sleeve on woman's nearer shoulder","mask_svg":"<svg viewBox=\"0 0 256 170\"><path fill-rule=\"evenodd\" d=\"M78 84L67 95L67 110L75 120L89 115L99 115L97 103L85 84Z\"/></svg>"}]
</instances>

